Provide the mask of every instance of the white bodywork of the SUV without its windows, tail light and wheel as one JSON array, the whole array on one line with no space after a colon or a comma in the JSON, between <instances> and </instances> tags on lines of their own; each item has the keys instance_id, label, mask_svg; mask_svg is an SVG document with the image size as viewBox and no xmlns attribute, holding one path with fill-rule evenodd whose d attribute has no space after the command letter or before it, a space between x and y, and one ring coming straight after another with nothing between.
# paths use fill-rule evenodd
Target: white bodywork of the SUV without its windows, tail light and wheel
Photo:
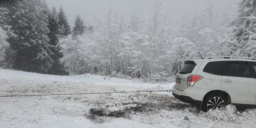
<instances>
[{"instance_id":1,"label":"white bodywork of the SUV without its windows, tail light and wheel","mask_svg":"<svg viewBox=\"0 0 256 128\"><path fill-rule=\"evenodd\" d=\"M229 59L229 58L211 58L211 59L195 59L193 61L197 65L193 71L189 74L177 73L176 79L180 78L182 84L177 83L172 88L173 95L181 101L199 104L199 101L203 101L205 95L211 90L218 90L227 93L231 98L231 104L237 106L244 106L244 108L252 108L256 105L256 60L251 59ZM230 77L215 75L208 72L204 72L205 65L209 62L224 61L226 65L227 61L248 61L250 62L250 71L252 72L252 63L255 63L255 72L251 73L252 78L244 77ZM224 67L223 66L223 67ZM217 70L217 69L216 69ZM224 71L224 68L223 68ZM237 70L236 70L237 71ZM189 75L200 75L202 79L195 82L193 86L186 85L187 77ZM224 80L232 80L232 82L224 82ZM184 96L187 97L184 100Z\"/></svg>"}]
</instances>

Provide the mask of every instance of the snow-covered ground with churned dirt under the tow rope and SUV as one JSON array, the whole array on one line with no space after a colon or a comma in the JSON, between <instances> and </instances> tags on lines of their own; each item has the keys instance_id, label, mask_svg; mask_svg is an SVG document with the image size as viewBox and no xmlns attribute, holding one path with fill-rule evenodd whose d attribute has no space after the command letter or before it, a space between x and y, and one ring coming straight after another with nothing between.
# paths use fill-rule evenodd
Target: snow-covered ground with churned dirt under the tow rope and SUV
<instances>
[{"instance_id":1,"label":"snow-covered ground with churned dirt under the tow rope and SUV","mask_svg":"<svg viewBox=\"0 0 256 128\"><path fill-rule=\"evenodd\" d=\"M171 84L0 69L0 96L167 90ZM0 97L0 128L256 128L256 110L208 113L170 92Z\"/></svg>"}]
</instances>

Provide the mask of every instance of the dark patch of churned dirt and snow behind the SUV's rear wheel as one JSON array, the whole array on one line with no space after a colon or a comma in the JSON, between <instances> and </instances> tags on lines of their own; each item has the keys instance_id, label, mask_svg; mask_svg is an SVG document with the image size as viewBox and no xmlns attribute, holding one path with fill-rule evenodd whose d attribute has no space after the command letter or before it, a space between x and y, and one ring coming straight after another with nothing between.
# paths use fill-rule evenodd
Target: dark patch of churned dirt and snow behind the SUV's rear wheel
<instances>
[{"instance_id":1,"label":"dark patch of churned dirt and snow behind the SUV's rear wheel","mask_svg":"<svg viewBox=\"0 0 256 128\"><path fill-rule=\"evenodd\" d=\"M105 97L104 100L97 99L92 102L95 103L96 108L91 108L86 116L88 119L98 123L104 122L104 118L109 117L129 118L135 113L149 115L158 113L161 110L181 110L194 106L181 102L173 96L161 94ZM118 109L113 110L112 108Z\"/></svg>"}]
</instances>

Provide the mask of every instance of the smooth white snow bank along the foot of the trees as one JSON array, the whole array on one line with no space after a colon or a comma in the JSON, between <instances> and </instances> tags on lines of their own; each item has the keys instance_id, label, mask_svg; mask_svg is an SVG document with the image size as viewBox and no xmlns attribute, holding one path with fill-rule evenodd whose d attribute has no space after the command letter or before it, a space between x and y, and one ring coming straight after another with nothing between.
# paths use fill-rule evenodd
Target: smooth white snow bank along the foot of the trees
<instances>
[{"instance_id":1,"label":"smooth white snow bank along the foot of the trees","mask_svg":"<svg viewBox=\"0 0 256 128\"><path fill-rule=\"evenodd\" d=\"M9 79L15 78L16 81L21 79L44 79L44 81L54 80L54 81L72 81L72 82L87 82L87 83L97 83L97 84L104 84L104 85L130 85L130 86L147 86L147 87L156 87L161 85L161 87L168 87L172 88L175 83L170 84L150 84L150 83L143 83L139 79L122 79L122 78L107 78L105 76L99 75L76 75L76 76L57 76L57 75L46 75L46 74L39 74L39 73L32 73L32 72L24 72L24 71L15 71L15 70L8 70L8 69L0 69L0 78L2 79ZM5 83L8 84L8 83Z\"/></svg>"}]
</instances>

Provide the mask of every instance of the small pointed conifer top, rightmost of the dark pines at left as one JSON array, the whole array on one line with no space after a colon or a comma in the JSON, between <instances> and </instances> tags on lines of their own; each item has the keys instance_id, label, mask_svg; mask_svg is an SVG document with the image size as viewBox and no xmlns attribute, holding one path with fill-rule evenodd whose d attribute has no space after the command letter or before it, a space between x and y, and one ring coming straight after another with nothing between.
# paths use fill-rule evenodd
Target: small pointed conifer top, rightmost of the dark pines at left
<instances>
[{"instance_id":1,"label":"small pointed conifer top, rightmost of the dark pines at left","mask_svg":"<svg viewBox=\"0 0 256 128\"><path fill-rule=\"evenodd\" d=\"M73 33L74 35L82 34L84 30L87 28L84 25L83 19L80 18L80 15L78 14L75 19L75 26L73 27Z\"/></svg>"}]
</instances>

